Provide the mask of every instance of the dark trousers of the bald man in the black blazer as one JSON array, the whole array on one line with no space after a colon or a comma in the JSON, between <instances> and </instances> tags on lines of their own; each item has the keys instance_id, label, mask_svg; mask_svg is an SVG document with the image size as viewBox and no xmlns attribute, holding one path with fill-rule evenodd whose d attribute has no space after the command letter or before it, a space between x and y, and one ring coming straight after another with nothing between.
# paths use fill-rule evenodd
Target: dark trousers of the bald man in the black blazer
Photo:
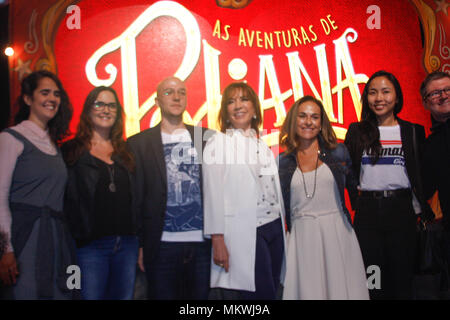
<instances>
[{"instance_id":1,"label":"dark trousers of the bald man in the black blazer","mask_svg":"<svg viewBox=\"0 0 450 320\"><path fill-rule=\"evenodd\" d=\"M211 240L161 242L145 265L150 300L206 300L209 293Z\"/></svg>"}]
</instances>

